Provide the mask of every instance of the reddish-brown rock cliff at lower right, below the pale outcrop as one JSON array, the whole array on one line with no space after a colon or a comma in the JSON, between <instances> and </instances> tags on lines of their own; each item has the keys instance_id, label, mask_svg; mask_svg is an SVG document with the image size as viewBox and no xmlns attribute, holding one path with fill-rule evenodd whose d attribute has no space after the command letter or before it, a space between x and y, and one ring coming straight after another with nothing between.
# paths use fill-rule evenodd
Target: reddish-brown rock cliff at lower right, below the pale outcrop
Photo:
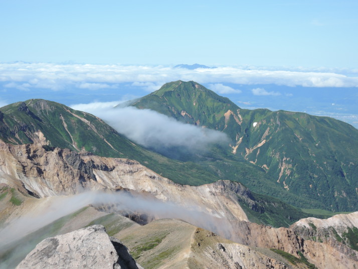
<instances>
[{"instance_id":1,"label":"reddish-brown rock cliff at lower right, below the pale outcrop","mask_svg":"<svg viewBox=\"0 0 358 269\"><path fill-rule=\"evenodd\" d=\"M355 213L352 213L353 216ZM349 218L349 217L348 217ZM325 220L322 220L323 222ZM235 242L262 248L275 248L288 252L299 258L301 252L317 268L351 268L358 263L358 251L336 240L334 235L325 241L304 238L303 234L293 228L272 228L246 221L233 223ZM343 258L344 257L344 258Z\"/></svg>"}]
</instances>

